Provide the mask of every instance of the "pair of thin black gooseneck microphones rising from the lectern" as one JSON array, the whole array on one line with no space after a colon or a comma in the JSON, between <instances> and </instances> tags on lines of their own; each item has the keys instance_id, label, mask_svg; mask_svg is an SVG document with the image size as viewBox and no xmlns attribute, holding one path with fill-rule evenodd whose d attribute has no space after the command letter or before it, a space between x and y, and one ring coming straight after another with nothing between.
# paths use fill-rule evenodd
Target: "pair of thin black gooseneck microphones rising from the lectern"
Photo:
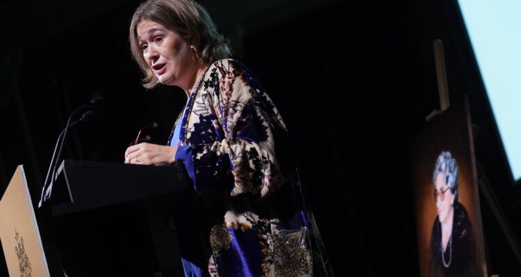
<instances>
[{"instance_id":1,"label":"pair of thin black gooseneck microphones rising from the lectern","mask_svg":"<svg viewBox=\"0 0 521 277\"><path fill-rule=\"evenodd\" d=\"M69 116L67 120L67 125L65 125L65 129L58 136L58 140L56 141L56 146L54 147L53 156L51 157L51 163L49 164L49 169L47 170L47 177L45 177L44 186L42 188L42 196L40 197L40 202L38 203L38 208L40 208L44 201L51 197L51 191L54 182L56 181L56 171L58 168L58 161L60 161L63 151L63 145L65 145L65 139L67 138L67 134L69 132L69 128L82 122L88 121L89 118L94 116L94 111L86 111L83 113L81 118L71 123L72 118L76 116L80 111L85 111L85 109L93 109L95 106L99 105L101 102L104 102L104 97L96 97L92 98L88 104L82 105L78 107L72 114ZM56 154L56 150L58 150L58 154Z\"/></svg>"}]
</instances>

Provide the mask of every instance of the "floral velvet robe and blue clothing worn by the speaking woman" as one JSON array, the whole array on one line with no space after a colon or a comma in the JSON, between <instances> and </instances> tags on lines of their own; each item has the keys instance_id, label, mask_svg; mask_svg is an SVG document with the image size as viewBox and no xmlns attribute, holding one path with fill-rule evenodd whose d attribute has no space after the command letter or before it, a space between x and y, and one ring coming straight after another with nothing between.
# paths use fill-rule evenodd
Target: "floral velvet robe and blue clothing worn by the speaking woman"
<instances>
[{"instance_id":1,"label":"floral velvet robe and blue clothing worn by the speaking woman","mask_svg":"<svg viewBox=\"0 0 521 277\"><path fill-rule=\"evenodd\" d=\"M317 234L286 125L253 73L235 60L214 62L181 114L169 145L179 145L176 160L200 204L181 224L201 234L191 238L201 251L183 257L185 274L208 276L197 273L202 259L209 276L313 276Z\"/></svg>"}]
</instances>

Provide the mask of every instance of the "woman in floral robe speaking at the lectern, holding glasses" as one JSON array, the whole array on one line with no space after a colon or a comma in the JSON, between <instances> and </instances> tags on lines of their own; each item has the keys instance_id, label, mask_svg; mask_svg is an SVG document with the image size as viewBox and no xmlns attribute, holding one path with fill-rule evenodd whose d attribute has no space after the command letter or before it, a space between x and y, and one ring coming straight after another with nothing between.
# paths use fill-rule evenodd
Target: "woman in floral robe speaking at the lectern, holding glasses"
<instances>
[{"instance_id":1,"label":"woman in floral robe speaking at the lectern, holding glasses","mask_svg":"<svg viewBox=\"0 0 521 277\"><path fill-rule=\"evenodd\" d=\"M188 97L167 145L125 152L126 163L182 162L193 181L194 201L175 222L185 275L313 276L316 234L286 125L254 74L229 59L206 10L146 1L129 36L144 87L177 86Z\"/></svg>"}]
</instances>

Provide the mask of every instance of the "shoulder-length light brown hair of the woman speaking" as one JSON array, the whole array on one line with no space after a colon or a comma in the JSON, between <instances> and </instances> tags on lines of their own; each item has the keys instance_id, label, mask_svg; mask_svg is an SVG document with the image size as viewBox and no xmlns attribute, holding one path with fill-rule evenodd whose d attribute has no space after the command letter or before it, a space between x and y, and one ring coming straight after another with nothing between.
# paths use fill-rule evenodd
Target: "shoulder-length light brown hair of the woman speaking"
<instances>
[{"instance_id":1,"label":"shoulder-length light brown hair of the woman speaking","mask_svg":"<svg viewBox=\"0 0 521 277\"><path fill-rule=\"evenodd\" d=\"M192 0L148 0L142 3L132 17L129 40L133 58L144 73L143 87L151 89L159 83L154 71L143 57L138 43L137 26L143 20L155 21L183 37L195 47L199 63L211 64L230 57L230 48L213 23L208 12Z\"/></svg>"}]
</instances>

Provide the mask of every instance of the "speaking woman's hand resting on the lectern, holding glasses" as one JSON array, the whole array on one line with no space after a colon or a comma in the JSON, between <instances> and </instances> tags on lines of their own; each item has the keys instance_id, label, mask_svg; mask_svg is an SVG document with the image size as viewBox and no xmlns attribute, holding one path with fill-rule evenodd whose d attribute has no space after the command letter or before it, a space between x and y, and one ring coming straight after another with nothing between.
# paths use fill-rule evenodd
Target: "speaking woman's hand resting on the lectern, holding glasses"
<instances>
[{"instance_id":1,"label":"speaking woman's hand resting on the lectern, holding glasses","mask_svg":"<svg viewBox=\"0 0 521 277\"><path fill-rule=\"evenodd\" d=\"M177 147L140 143L126 148L125 163L169 166L174 163Z\"/></svg>"}]
</instances>

